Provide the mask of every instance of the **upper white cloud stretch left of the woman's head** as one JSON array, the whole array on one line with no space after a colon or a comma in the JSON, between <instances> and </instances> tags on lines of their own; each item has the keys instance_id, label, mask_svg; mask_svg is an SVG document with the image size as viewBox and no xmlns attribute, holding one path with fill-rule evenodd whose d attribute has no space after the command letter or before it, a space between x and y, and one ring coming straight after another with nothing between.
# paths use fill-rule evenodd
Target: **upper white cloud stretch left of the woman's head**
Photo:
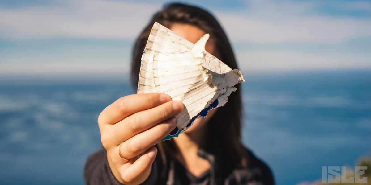
<instances>
[{"instance_id":1,"label":"upper white cloud stretch left of the woman's head","mask_svg":"<svg viewBox=\"0 0 371 185\"><path fill-rule=\"evenodd\" d=\"M8 39L50 37L132 38L161 6L123 1L60 1L55 6L0 9L0 35Z\"/></svg>"}]
</instances>

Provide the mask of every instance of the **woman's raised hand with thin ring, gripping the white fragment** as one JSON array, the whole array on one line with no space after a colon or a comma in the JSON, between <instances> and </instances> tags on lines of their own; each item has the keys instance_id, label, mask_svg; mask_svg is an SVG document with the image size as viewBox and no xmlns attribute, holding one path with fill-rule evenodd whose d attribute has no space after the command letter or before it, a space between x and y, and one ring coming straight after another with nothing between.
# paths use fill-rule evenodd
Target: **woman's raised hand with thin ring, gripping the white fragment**
<instances>
[{"instance_id":1,"label":"woman's raised hand with thin ring, gripping the white fragment","mask_svg":"<svg viewBox=\"0 0 371 185\"><path fill-rule=\"evenodd\" d=\"M98 118L101 141L118 181L140 184L148 178L157 154L152 146L175 128L177 121L173 116L183 107L167 94L132 94L119 98L101 112Z\"/></svg>"}]
</instances>

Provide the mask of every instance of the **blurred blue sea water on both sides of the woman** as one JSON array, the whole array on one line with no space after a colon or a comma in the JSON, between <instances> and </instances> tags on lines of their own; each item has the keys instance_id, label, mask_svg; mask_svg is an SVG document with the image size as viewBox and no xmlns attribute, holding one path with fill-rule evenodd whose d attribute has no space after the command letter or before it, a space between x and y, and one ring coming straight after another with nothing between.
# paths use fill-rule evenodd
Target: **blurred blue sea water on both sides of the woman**
<instances>
[{"instance_id":1,"label":"blurred blue sea water on both sides of the woman","mask_svg":"<svg viewBox=\"0 0 371 185\"><path fill-rule=\"evenodd\" d=\"M370 70L244 74L243 141L277 184L371 156ZM99 113L133 92L124 75L2 76L0 184L83 184Z\"/></svg>"}]
</instances>

